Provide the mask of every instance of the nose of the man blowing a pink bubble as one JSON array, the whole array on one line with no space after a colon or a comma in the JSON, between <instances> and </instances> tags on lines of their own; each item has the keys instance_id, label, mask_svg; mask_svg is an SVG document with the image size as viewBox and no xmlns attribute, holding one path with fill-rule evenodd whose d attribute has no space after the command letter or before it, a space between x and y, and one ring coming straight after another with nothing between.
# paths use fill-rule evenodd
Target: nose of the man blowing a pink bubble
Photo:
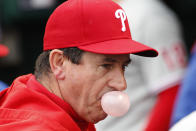
<instances>
[{"instance_id":1,"label":"nose of the man blowing a pink bubble","mask_svg":"<svg viewBox=\"0 0 196 131\"><path fill-rule=\"evenodd\" d=\"M110 79L108 85L115 90L123 91L127 88L127 83L124 77L124 72L121 70L116 70Z\"/></svg>"}]
</instances>

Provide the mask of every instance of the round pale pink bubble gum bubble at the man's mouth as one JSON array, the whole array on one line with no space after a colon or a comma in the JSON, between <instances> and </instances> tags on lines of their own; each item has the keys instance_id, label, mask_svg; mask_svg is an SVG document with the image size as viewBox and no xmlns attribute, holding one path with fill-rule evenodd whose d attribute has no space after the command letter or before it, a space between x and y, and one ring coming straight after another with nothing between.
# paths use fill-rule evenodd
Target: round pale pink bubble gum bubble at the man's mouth
<instances>
[{"instance_id":1,"label":"round pale pink bubble gum bubble at the man's mouth","mask_svg":"<svg viewBox=\"0 0 196 131\"><path fill-rule=\"evenodd\" d=\"M122 116L129 110L129 96L121 91L108 92L102 96L101 106L110 116Z\"/></svg>"}]
</instances>

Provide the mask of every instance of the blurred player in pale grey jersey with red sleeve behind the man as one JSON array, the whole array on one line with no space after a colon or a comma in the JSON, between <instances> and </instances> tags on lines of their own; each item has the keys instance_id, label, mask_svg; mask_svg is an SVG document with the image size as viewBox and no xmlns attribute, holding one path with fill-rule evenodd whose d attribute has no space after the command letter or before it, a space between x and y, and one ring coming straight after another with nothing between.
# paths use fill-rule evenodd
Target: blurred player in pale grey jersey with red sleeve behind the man
<instances>
[{"instance_id":1,"label":"blurred player in pale grey jersey with red sleeve behind the man","mask_svg":"<svg viewBox=\"0 0 196 131\"><path fill-rule=\"evenodd\" d=\"M114 1L127 13L134 40L158 49L160 56L145 61L131 56L126 72L130 110L98 123L97 131L168 131L187 61L181 25L161 0Z\"/></svg>"}]
</instances>

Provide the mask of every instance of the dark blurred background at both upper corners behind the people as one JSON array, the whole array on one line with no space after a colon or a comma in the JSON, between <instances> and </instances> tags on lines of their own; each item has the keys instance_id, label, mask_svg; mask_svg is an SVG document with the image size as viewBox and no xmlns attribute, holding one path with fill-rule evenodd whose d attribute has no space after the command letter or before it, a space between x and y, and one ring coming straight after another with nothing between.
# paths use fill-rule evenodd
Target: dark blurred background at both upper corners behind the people
<instances>
[{"instance_id":1,"label":"dark blurred background at both upper corners behind the people","mask_svg":"<svg viewBox=\"0 0 196 131\"><path fill-rule=\"evenodd\" d=\"M7 84L33 73L47 19L65 0L0 0L0 43L10 53L0 59L0 80ZM164 0L178 16L189 53L196 41L196 0Z\"/></svg>"}]
</instances>

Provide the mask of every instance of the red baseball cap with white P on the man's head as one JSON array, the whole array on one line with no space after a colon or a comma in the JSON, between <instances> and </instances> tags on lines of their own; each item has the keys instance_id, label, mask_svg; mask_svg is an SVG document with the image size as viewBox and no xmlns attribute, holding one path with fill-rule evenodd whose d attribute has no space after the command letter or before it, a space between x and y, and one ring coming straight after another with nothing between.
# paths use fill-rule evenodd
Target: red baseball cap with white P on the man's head
<instances>
[{"instance_id":1,"label":"red baseball cap with white P on the man's head","mask_svg":"<svg viewBox=\"0 0 196 131\"><path fill-rule=\"evenodd\" d=\"M54 10L46 24L43 48L67 47L98 54L158 55L132 40L124 10L111 0L68 0Z\"/></svg>"}]
</instances>

